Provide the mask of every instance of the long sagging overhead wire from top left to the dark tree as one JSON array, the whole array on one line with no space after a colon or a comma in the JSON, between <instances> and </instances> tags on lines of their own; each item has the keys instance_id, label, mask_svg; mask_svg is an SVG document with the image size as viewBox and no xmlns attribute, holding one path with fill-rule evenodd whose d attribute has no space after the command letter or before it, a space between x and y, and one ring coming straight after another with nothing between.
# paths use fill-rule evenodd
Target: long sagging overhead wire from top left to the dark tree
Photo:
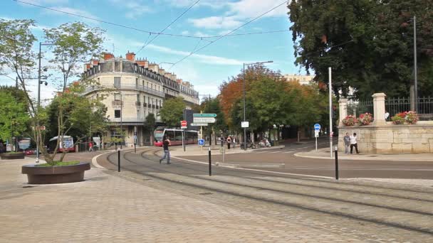
<instances>
[{"instance_id":1,"label":"long sagging overhead wire from top left to the dark tree","mask_svg":"<svg viewBox=\"0 0 433 243\"><path fill-rule=\"evenodd\" d=\"M208 40L206 40L206 38L219 38L219 37L223 36L223 35L221 35L221 36L191 36L191 35L179 35L179 34L174 34L174 33L161 33L161 32L156 32L156 31L146 31L146 30L143 30L143 29L140 29L140 28L135 28L135 27L132 27L132 26L125 26L125 25L122 25L122 24L119 24L119 23L113 23L113 22L110 22L110 21L104 21L104 20L101 20L99 18L91 18L91 17L83 16L83 15L80 15L80 14L77 14L77 13L71 13L71 12L68 12L68 11L63 11L63 10L59 10L59 9L53 9L53 8L49 8L49 7L46 7L46 6L41 6L41 5L38 5L38 4L32 4L32 3L29 3L29 2L26 2L26 1L20 1L20 0L12 0L12 1L16 1L16 2L19 2L21 4L27 4L27 5L30 5L30 6L36 6L36 7L41 8L41 9L47 9L47 10L50 10L50 11L56 11L58 13L65 13L65 14L68 14L68 15L71 15L71 16L85 18L85 19L88 19L88 20L91 20L91 21L97 21L97 22L100 22L100 23L106 23L106 24L109 24L109 25L112 25L112 26L118 26L120 28L127 28L127 29L130 29L130 30L133 30L133 31L140 31L140 32L148 33L150 35L175 36L175 37L196 38L196 39L203 38L203 41L208 41ZM233 34L233 35L224 35L224 37L227 37L227 36L246 36L246 35L264 34L264 33L280 33L280 32L288 32L288 31L289 30L262 31L262 32L254 32L254 33L239 33L239 34ZM208 42L211 42L211 41L208 41Z\"/></svg>"}]
</instances>

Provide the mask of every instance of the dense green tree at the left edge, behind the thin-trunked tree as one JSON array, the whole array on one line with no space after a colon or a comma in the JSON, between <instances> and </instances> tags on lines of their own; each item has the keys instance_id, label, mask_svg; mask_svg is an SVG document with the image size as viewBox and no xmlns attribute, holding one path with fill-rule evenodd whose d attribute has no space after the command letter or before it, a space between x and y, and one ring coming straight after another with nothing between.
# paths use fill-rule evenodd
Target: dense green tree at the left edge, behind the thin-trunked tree
<instances>
[{"instance_id":1,"label":"dense green tree at the left edge, behind the thin-trunked tree","mask_svg":"<svg viewBox=\"0 0 433 243\"><path fill-rule=\"evenodd\" d=\"M0 140L6 141L12 136L21 136L28 131L26 104L17 102L9 92L0 92Z\"/></svg>"}]
</instances>

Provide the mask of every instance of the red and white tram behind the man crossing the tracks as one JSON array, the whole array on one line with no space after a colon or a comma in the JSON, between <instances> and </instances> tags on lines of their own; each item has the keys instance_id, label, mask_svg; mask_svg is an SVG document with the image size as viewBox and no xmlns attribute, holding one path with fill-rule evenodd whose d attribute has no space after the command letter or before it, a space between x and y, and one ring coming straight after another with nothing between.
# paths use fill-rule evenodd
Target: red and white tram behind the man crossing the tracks
<instances>
[{"instance_id":1,"label":"red and white tram behind the man crossing the tracks","mask_svg":"<svg viewBox=\"0 0 433 243\"><path fill-rule=\"evenodd\" d=\"M172 146L182 145L182 131L182 129L157 128L155 129L155 141L153 144L162 147L162 139L166 136L172 142ZM198 131L185 131L185 144L197 144L198 134Z\"/></svg>"}]
</instances>

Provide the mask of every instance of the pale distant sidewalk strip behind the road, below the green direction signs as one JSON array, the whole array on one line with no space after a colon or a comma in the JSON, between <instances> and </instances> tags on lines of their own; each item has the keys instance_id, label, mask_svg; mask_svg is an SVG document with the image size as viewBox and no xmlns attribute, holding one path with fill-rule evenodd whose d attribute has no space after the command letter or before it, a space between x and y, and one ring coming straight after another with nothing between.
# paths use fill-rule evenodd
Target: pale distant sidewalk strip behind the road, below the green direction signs
<instances>
[{"instance_id":1,"label":"pale distant sidewalk strip behind the road, below the green direction signs","mask_svg":"<svg viewBox=\"0 0 433 243\"><path fill-rule=\"evenodd\" d=\"M236 148L231 147L230 149L227 148L227 146L224 146L224 153L231 154L231 153L251 153L252 151L262 151L267 149L278 149L278 148L284 148L284 146L274 146L270 148L246 148L246 151L244 149L241 149L240 146L236 146ZM188 145L183 150L182 146L172 146L170 147L170 154L172 156L204 156L207 155L209 152L209 146L198 146L198 145ZM221 154L222 148L221 145L215 145L211 146L211 153L212 155L219 155Z\"/></svg>"}]
</instances>

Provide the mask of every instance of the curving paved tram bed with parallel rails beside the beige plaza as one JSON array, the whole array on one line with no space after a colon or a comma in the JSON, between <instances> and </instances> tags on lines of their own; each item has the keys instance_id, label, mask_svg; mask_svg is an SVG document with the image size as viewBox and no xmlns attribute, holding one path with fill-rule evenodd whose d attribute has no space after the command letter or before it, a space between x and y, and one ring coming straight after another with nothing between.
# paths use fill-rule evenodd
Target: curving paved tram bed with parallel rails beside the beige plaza
<instances>
[{"instance_id":1,"label":"curving paved tram bed with parallel rails beside the beige plaza","mask_svg":"<svg viewBox=\"0 0 433 243\"><path fill-rule=\"evenodd\" d=\"M433 241L431 188L276 176L218 166L209 177L207 165L177 160L160 164L155 151L122 153L122 169L135 172L131 176L137 180L155 180L188 197L348 237L343 242ZM117 155L101 163L115 168Z\"/></svg>"}]
</instances>

